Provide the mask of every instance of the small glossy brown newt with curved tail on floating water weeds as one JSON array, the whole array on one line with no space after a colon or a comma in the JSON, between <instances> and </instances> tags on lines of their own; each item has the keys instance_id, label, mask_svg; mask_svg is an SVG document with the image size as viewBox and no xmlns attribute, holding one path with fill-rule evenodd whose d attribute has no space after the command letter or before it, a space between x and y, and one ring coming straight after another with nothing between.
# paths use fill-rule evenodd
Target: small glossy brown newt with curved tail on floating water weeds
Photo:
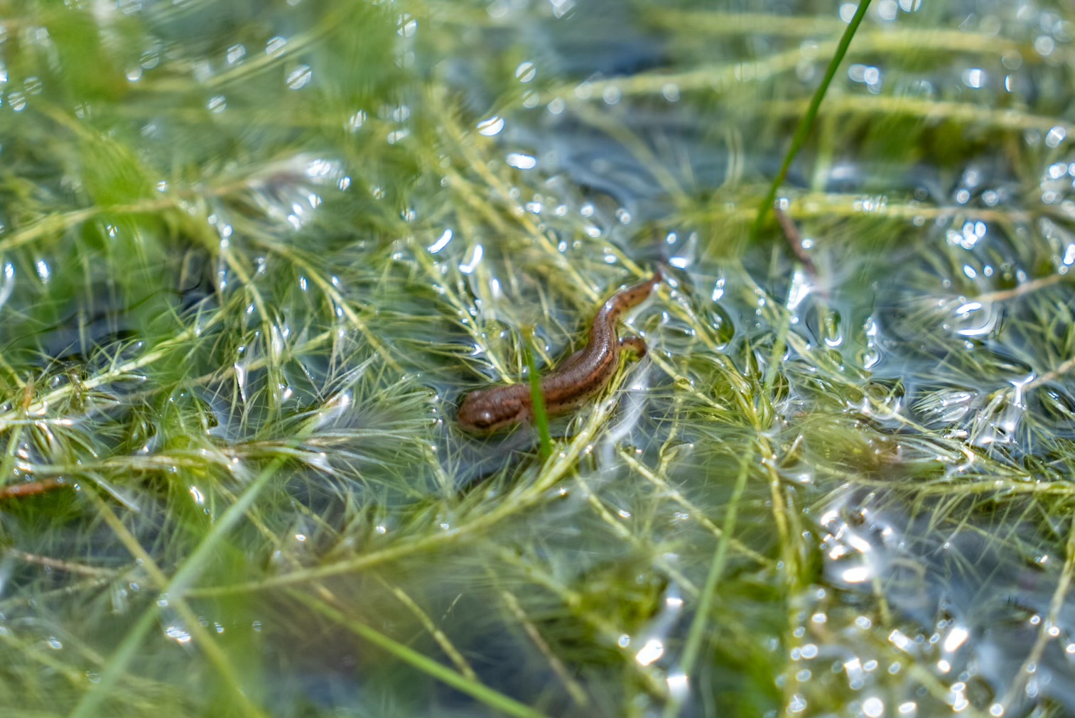
<instances>
[{"instance_id":1,"label":"small glossy brown newt with curved tail on floating water weeds","mask_svg":"<svg viewBox=\"0 0 1075 718\"><path fill-rule=\"evenodd\" d=\"M641 336L616 335L616 322L637 306L661 283L661 273L613 295L598 311L586 347L541 379L541 393L549 416L583 404L612 379L619 368L619 351L627 348L639 357L646 354ZM533 418L529 384L479 389L467 394L459 407L459 426L474 433L491 433Z\"/></svg>"}]
</instances>

